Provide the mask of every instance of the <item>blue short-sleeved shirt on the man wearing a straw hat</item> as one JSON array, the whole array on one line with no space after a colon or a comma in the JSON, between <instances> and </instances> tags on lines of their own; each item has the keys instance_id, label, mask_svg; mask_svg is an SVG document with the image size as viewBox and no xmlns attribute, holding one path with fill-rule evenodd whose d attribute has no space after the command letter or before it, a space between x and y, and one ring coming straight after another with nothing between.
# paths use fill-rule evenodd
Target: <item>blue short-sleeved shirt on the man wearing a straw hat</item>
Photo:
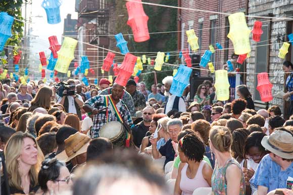
<instances>
[{"instance_id":1,"label":"blue short-sleeved shirt on the man wearing a straw hat","mask_svg":"<svg viewBox=\"0 0 293 195\"><path fill-rule=\"evenodd\" d=\"M255 174L250 180L251 185L259 185L268 188L268 192L277 188L286 188L288 176L293 177L293 163L282 171L280 165L275 163L269 154L261 160Z\"/></svg>"}]
</instances>

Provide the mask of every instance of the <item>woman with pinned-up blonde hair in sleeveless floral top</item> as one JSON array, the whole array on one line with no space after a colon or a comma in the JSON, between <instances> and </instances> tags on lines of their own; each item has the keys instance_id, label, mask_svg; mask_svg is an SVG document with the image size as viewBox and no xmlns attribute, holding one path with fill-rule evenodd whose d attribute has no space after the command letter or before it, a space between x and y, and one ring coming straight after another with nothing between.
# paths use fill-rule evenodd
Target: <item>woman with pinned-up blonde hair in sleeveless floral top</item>
<instances>
[{"instance_id":1,"label":"woman with pinned-up blonde hair in sleeveless floral top","mask_svg":"<svg viewBox=\"0 0 293 195\"><path fill-rule=\"evenodd\" d=\"M232 135L225 126L213 126L210 131L210 148L216 157L212 176L212 191L215 195L245 195L246 184L239 163L231 156Z\"/></svg>"}]
</instances>

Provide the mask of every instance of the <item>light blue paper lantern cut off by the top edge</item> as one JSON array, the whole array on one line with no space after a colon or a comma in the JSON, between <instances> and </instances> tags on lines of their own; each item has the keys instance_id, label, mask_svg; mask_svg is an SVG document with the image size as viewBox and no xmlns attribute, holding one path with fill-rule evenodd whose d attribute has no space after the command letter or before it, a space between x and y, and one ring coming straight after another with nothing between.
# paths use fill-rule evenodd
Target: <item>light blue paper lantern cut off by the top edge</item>
<instances>
[{"instance_id":1,"label":"light blue paper lantern cut off by the top edge","mask_svg":"<svg viewBox=\"0 0 293 195\"><path fill-rule=\"evenodd\" d=\"M61 3L59 0L44 0L41 6L46 11L48 24L58 24L61 22L61 17L60 17Z\"/></svg>"}]
</instances>

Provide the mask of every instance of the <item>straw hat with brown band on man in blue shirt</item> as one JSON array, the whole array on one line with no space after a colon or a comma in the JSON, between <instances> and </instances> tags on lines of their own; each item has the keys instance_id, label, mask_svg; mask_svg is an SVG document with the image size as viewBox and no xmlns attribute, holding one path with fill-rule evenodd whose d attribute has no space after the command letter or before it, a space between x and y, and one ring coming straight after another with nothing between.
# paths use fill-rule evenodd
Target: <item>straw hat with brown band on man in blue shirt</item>
<instances>
[{"instance_id":1,"label":"straw hat with brown band on man in blue shirt","mask_svg":"<svg viewBox=\"0 0 293 195\"><path fill-rule=\"evenodd\" d=\"M262 139L262 145L281 158L293 159L293 136L288 132L276 130Z\"/></svg>"}]
</instances>

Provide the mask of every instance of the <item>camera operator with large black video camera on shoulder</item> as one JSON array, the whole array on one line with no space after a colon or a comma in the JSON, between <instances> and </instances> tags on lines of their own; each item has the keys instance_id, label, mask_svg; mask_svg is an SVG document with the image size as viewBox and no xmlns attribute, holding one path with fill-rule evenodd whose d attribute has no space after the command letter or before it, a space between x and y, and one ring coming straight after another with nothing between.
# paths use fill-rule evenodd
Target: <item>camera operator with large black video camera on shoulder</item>
<instances>
[{"instance_id":1,"label":"camera operator with large black video camera on shoulder","mask_svg":"<svg viewBox=\"0 0 293 195\"><path fill-rule=\"evenodd\" d=\"M58 103L64 106L65 112L77 114L78 118L81 120L80 107L83 106L82 97L78 94L67 95L69 91L75 91L75 82L73 79L69 79L67 83L71 86L71 88L70 90L63 91L63 97L58 98Z\"/></svg>"}]
</instances>

